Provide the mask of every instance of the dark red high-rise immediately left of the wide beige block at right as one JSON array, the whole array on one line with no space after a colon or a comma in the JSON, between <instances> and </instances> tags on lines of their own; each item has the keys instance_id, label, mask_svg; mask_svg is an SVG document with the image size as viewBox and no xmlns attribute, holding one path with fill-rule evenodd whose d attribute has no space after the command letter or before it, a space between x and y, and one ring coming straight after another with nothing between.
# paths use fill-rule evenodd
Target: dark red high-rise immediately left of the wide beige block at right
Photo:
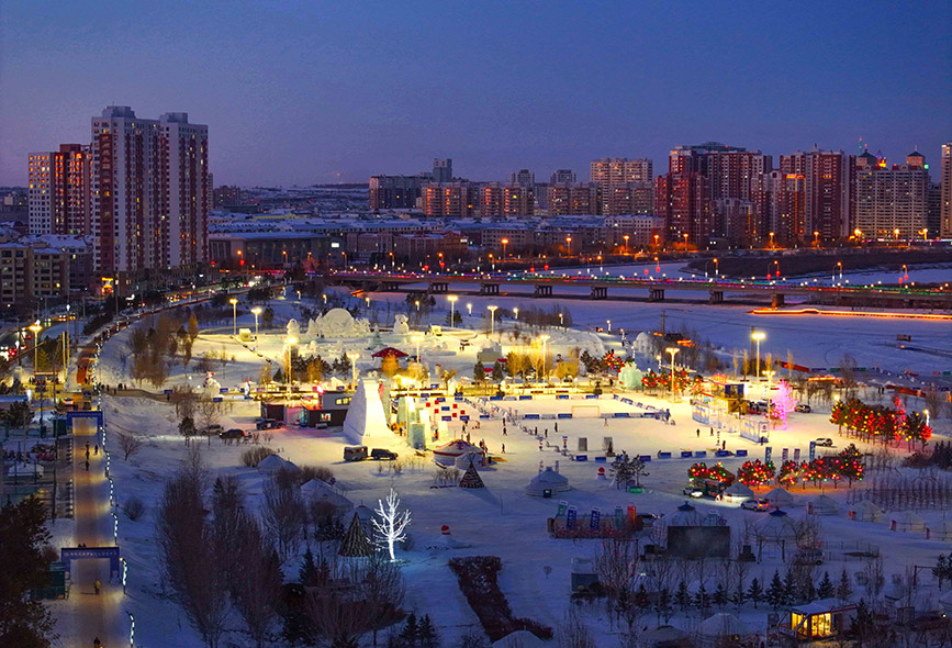
<instances>
[{"instance_id":1,"label":"dark red high-rise immediately left of the wide beige block at right","mask_svg":"<svg viewBox=\"0 0 952 648\"><path fill-rule=\"evenodd\" d=\"M813 148L781 156L784 174L804 176L805 231L821 241L849 238L855 199L856 156Z\"/></svg>"}]
</instances>

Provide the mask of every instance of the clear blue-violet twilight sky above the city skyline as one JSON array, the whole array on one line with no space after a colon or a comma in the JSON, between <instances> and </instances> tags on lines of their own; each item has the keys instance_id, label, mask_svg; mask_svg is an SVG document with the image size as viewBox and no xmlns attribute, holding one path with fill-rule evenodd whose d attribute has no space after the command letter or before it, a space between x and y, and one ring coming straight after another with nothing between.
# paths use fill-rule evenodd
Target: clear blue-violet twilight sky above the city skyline
<instances>
[{"instance_id":1,"label":"clear blue-violet twilight sky above the city skyline","mask_svg":"<svg viewBox=\"0 0 952 648\"><path fill-rule=\"evenodd\" d=\"M367 181L452 157L540 180L716 139L936 163L952 0L0 0L0 185L107 104L208 124L215 183ZM937 165L938 166L938 165ZM934 169L936 167L933 167ZM938 175L933 170L933 178Z\"/></svg>"}]
</instances>

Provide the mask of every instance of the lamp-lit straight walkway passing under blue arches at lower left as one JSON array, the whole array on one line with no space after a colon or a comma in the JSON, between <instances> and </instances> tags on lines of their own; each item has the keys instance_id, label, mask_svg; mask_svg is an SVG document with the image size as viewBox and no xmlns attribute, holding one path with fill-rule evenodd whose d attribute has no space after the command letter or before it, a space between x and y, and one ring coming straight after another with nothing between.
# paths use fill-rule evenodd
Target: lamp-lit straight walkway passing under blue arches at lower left
<instances>
[{"instance_id":1,"label":"lamp-lit straight walkway passing under blue arches at lower left","mask_svg":"<svg viewBox=\"0 0 952 648\"><path fill-rule=\"evenodd\" d=\"M74 489L76 496L76 541L88 547L113 546L112 516L109 506L109 482L105 480L105 458L99 443L96 422L76 420L72 423L76 448L74 451ZM86 443L89 442L89 471L86 470ZM72 565L72 590L69 602L76 606L77 646L92 646L99 637L105 648L124 646L128 638L122 632L122 581L110 583L109 560L78 560ZM102 581L102 591L96 595L93 581Z\"/></svg>"}]
</instances>

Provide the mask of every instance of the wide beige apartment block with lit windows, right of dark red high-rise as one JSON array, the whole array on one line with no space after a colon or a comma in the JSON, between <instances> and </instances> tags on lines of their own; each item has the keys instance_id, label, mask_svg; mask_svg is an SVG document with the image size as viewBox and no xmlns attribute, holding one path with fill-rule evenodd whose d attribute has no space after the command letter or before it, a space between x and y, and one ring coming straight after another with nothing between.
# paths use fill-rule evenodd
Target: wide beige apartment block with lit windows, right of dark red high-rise
<instances>
[{"instance_id":1,"label":"wide beige apartment block with lit windows, right of dark red high-rise","mask_svg":"<svg viewBox=\"0 0 952 648\"><path fill-rule=\"evenodd\" d=\"M912 238L926 227L929 171L920 154L905 165L856 169L852 226L865 238Z\"/></svg>"}]
</instances>

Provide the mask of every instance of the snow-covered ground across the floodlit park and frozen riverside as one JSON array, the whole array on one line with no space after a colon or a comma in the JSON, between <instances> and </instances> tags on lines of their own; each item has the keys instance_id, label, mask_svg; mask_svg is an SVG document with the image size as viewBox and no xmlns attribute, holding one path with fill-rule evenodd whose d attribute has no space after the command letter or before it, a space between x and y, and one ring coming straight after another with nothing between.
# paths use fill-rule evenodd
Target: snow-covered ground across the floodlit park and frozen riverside
<instances>
[{"instance_id":1,"label":"snow-covered ground across the floodlit park and frozen riverside","mask_svg":"<svg viewBox=\"0 0 952 648\"><path fill-rule=\"evenodd\" d=\"M397 312L403 295L372 294L371 308L378 309L378 315L387 309L387 300L391 300L392 314ZM438 298L440 299L440 298ZM464 315L464 325L480 327L481 315L486 305L499 305L503 309L525 308L528 300L523 298L463 297L457 303L457 310ZM468 315L466 303L472 304L472 315ZM531 302L531 305L551 308L552 302ZM278 313L278 321L294 314L295 304L287 300L272 302ZM775 357L786 359L787 350L797 364L814 367L837 366L844 353L853 355L859 366L881 367L889 371L900 372L912 370L930 373L933 370L952 368L952 331L948 323L925 321L891 321L891 320L830 320L821 317L798 317L784 320L777 317L760 317L749 314L737 306L680 306L662 304L630 304L613 302L572 302L565 304L571 309L574 319L574 329L550 329L548 340L552 353L568 353L573 347L584 347L595 351L605 348L620 348L617 332L657 328L662 311L668 329L679 327L697 331L702 337L709 338L724 349L747 348L751 326L757 326L766 333L766 340L761 345L761 354L773 353ZM438 303L432 320L441 323L449 311L449 303ZM612 320L613 334L594 333L586 327L605 326ZM503 326L509 326L509 321ZM499 322L496 323L499 326ZM250 315L239 319L238 326L253 327ZM306 324L302 323L302 329ZM195 343L193 357L199 358L205 351L220 353L234 361L215 367L215 380L223 387L237 387L245 380L257 381L264 360L248 348L229 338L231 326L217 332L203 332ZM921 349L911 351L897 348L895 335L903 333L911 335L919 342ZM125 382L132 384L128 377L124 332L103 348L99 367L99 380L108 384ZM260 353L271 358L275 366L282 364L284 346L282 331L261 334L258 343ZM423 360L434 370L439 364L443 368L457 369L459 376L470 377L475 362L475 350L483 336L470 329L446 332L436 337L427 335L419 344ZM460 340L472 342L464 349ZM508 336L497 335L503 343L503 353L508 347ZM920 342L921 340L921 342ZM311 339L302 336L302 346L310 345ZM372 350L381 346L396 346L402 350L415 353L416 342L412 335L393 335L383 333L377 338L351 340L316 342L313 348L302 348L302 354L320 353L325 359L339 357L341 353L359 353L358 370L360 376L367 376L373 370ZM194 362L194 360L193 360ZM642 360L642 366L645 361ZM193 365L191 366L193 367ZM349 377L341 377L349 378ZM172 368L172 375L166 387L184 383L191 380L199 386L203 376L190 369L187 373L180 365ZM623 394L624 395L624 394ZM270 442L272 449L282 457L298 465L321 465L331 467L345 490L346 495L355 504L367 504L373 507L378 499L385 496L392 485L399 492L404 503L413 512L411 534L413 547L400 551L403 561L404 576L407 581L407 596L404 607L419 614L429 614L436 623L441 636L453 638L467 628L478 627L478 621L459 591L456 578L447 567L447 560L457 555L494 555L503 560L503 571L500 584L508 596L516 616L535 618L550 626L558 626L564 618L569 606L570 563L572 558L591 558L598 548L596 540L558 540L546 533L546 519L556 513L557 500L564 499L578 506L584 514L593 506L603 512L611 512L615 506L634 504L638 512L671 514L677 505L684 502L681 493L686 481L686 469L693 460L654 459L649 466L650 476L643 479L646 492L627 494L615 490L607 481L600 480L596 471L600 463L594 462L601 448L601 439L612 436L616 450L625 450L630 455L650 455L657 457L658 451L715 449L717 437L712 437L706 427L694 424L686 402L670 403L663 399L638 394L635 401L645 405L670 409L676 425L667 425L653 418L572 418L559 421L558 434L555 432L555 421L522 421L535 432L548 431L548 440L555 445L561 444L561 436L568 436L568 448L574 450L580 437L587 438L589 460L571 461L569 457L558 454L552 448L539 450L538 440L534 435L520 432L516 426L507 426L507 436L502 434L502 422L497 416L483 420L480 427L471 424L469 432L473 443L484 439L490 451L500 458L491 469L482 472L486 488L483 490L432 489L434 467L427 460L405 460L403 470L394 474L385 470L382 463L366 461L345 463L343 448L346 442L338 429L315 431L299 427L285 427L276 431ZM626 405L613 399L611 393L604 394L597 401L557 401L553 396L542 396L533 401L504 401L502 406L519 415L549 415L571 412L572 405L597 403L600 413L631 412L640 410ZM500 403L495 403L500 404ZM471 407L471 405L464 405ZM137 495L149 509L155 510L164 481L175 471L178 460L184 455L186 447L177 433L177 421L170 404L138 398L107 398L104 402L107 422L111 432L137 432L147 437L147 445L128 462L120 457L113 457L113 476L120 502ZM578 410L581 415L583 412ZM591 414L591 411L586 412ZM259 415L256 402L238 401L232 405L221 422L225 428L242 427L248 429L253 420ZM832 437L837 446L845 442L837 436L836 428L828 422L829 412L813 414L794 414L791 416L788 429L773 431L770 446L777 461L783 448L802 450L806 457L809 442L817 437ZM948 433L947 421L938 422L938 431ZM697 435L701 428L702 434ZM451 428L450 434L459 428ZM444 437L445 439L446 437ZM747 449L750 458L763 458L764 448L739 438L736 434L725 433L721 440L727 442L729 450ZM505 444L505 454L502 445ZM862 447L862 444L858 444ZM401 437L394 436L391 449L406 458L411 456ZM245 487L245 493L256 501L262 488L262 477L257 470L240 466L240 451L237 446L226 446L213 440L205 448L204 456L213 473L235 474ZM712 461L712 459L707 459ZM537 474L540 462L555 466L559 461L560 472L572 485L571 491L553 500L531 498L524 493L525 485ZM743 459L727 458L724 460L729 470L735 470ZM862 487L854 487L862 488ZM849 489L837 491L827 489L840 505L837 515L822 517L820 524L825 539L844 541L866 541L888 547L887 570L889 573L901 573L908 565L933 563L941 552L948 552L948 546L934 540L925 539L925 535L901 534L888 529L888 515L881 523L850 522L847 518L847 494ZM805 514L806 502L818 491L806 489L797 491L798 506L792 511L795 517ZM724 515L735 534L741 534L748 522L760 519L763 514L741 511L737 505L721 502L704 501L699 511L707 513L716 511ZM938 523L942 516L938 511L926 511L923 516L930 524ZM121 516L120 544L123 555L130 562L128 602L124 605L133 612L137 619L136 641L149 648L165 646L199 645L193 632L188 626L184 616L172 603L163 595L163 583L157 574L157 557L154 540L153 518L150 513L143 518L131 522ZM464 548L451 550L428 549L440 546L440 528L449 525L453 538ZM819 569L829 570L836 580L841 569L858 568L858 562L828 562ZM765 558L755 565L748 579L759 578L763 583L769 581L774 569L780 568L775 557ZM295 573L290 570L288 577ZM590 621L600 628L600 646L614 646L617 639L604 628L607 619L601 607L589 610ZM765 613L763 610L744 611L744 616L763 627ZM653 619L652 619L653 621ZM675 617L675 625L688 627L696 624L696 618ZM237 627L236 622L231 626ZM172 629L172 632L169 632Z\"/></svg>"}]
</instances>

